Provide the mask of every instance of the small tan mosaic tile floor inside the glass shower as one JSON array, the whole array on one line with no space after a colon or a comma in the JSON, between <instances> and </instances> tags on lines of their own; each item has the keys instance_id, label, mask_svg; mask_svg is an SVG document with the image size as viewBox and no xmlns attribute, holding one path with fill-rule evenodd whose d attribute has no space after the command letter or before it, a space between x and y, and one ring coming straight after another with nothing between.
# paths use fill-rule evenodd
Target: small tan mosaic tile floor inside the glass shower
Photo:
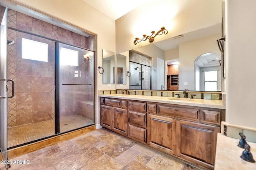
<instances>
[{"instance_id":1,"label":"small tan mosaic tile floor inside the glass shower","mask_svg":"<svg viewBox=\"0 0 256 170\"><path fill-rule=\"evenodd\" d=\"M60 133L93 125L93 121L80 115L60 118ZM54 119L30 123L7 129L8 148L54 135Z\"/></svg>"}]
</instances>

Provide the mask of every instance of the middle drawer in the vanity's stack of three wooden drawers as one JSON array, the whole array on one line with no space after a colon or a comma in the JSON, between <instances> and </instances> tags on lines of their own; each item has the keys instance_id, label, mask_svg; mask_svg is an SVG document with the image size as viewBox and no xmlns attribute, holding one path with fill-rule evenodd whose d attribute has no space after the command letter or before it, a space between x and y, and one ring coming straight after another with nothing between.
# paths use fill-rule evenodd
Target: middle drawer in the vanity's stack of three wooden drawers
<instances>
[{"instance_id":1,"label":"middle drawer in the vanity's stack of three wooden drawers","mask_svg":"<svg viewBox=\"0 0 256 170\"><path fill-rule=\"evenodd\" d=\"M146 128L146 113L129 111L129 123Z\"/></svg>"}]
</instances>

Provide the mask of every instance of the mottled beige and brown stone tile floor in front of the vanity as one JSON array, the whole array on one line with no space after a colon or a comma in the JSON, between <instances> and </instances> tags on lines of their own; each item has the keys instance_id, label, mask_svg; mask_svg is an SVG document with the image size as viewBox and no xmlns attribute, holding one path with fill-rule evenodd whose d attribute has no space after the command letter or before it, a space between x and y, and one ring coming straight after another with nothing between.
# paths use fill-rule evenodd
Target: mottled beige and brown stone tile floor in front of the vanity
<instances>
[{"instance_id":1,"label":"mottled beige and brown stone tile floor in front of the vanity","mask_svg":"<svg viewBox=\"0 0 256 170\"><path fill-rule=\"evenodd\" d=\"M104 128L11 159L17 160L29 164L10 170L198 170Z\"/></svg>"}]
</instances>

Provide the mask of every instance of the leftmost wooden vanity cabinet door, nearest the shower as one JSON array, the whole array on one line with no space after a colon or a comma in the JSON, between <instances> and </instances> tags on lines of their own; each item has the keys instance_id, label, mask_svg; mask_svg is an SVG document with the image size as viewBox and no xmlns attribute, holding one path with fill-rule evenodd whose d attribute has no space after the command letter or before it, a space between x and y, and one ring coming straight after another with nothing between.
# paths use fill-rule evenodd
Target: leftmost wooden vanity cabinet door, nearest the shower
<instances>
[{"instance_id":1,"label":"leftmost wooden vanity cabinet door, nearest the shower","mask_svg":"<svg viewBox=\"0 0 256 170\"><path fill-rule=\"evenodd\" d=\"M100 125L107 129L112 129L113 119L112 119L112 107L110 106L100 106Z\"/></svg>"}]
</instances>

